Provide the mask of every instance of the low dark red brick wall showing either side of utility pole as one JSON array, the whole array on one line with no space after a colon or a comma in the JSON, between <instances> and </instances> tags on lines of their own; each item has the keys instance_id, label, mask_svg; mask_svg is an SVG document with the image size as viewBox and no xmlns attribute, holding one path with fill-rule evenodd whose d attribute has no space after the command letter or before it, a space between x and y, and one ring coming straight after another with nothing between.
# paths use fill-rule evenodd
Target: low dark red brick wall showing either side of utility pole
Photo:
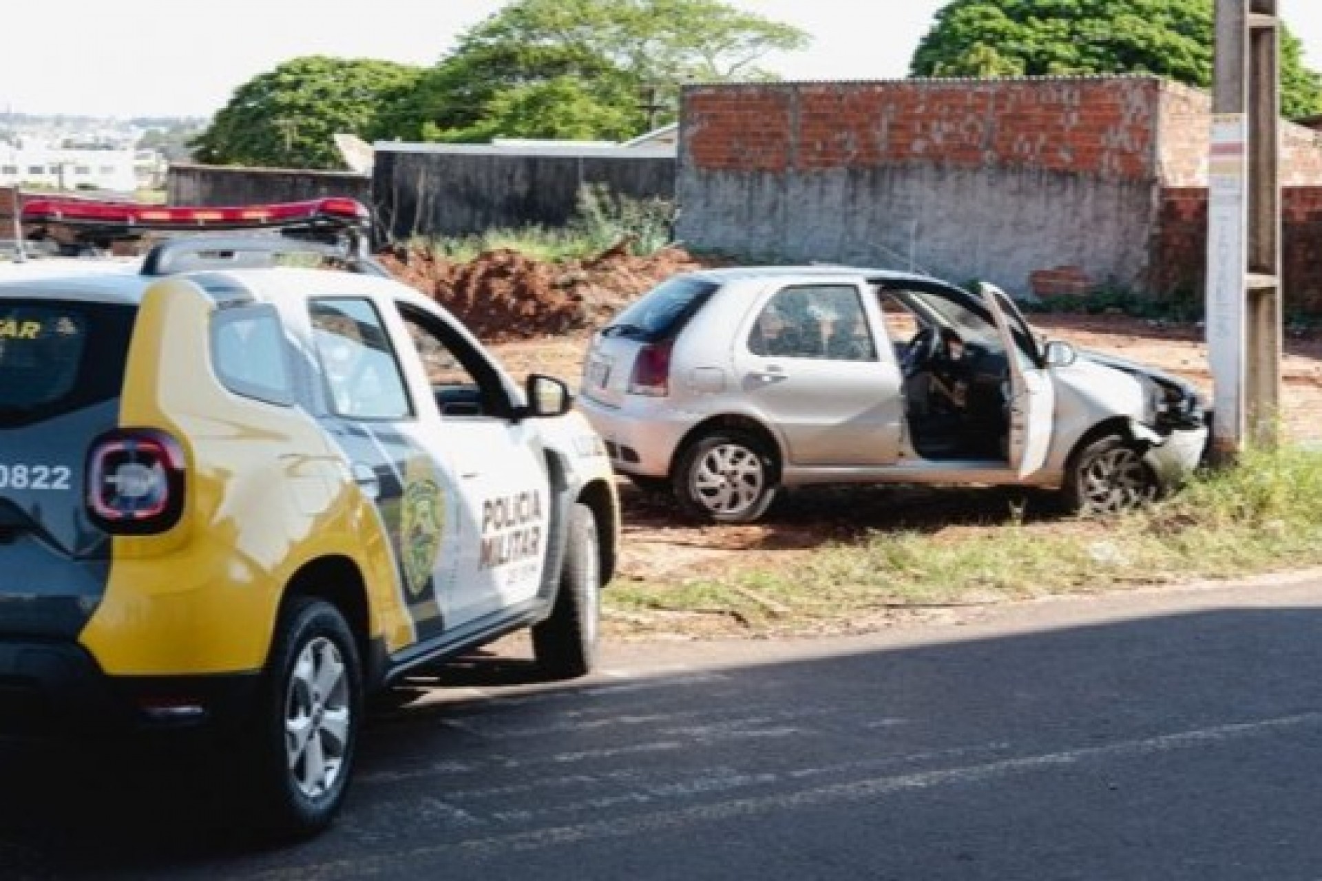
<instances>
[{"instance_id":1,"label":"low dark red brick wall showing either side of utility pole","mask_svg":"<svg viewBox=\"0 0 1322 881\"><path fill-rule=\"evenodd\" d=\"M1322 186L1281 193L1286 312L1322 312ZM1153 293L1203 297L1207 267L1207 190L1162 192Z\"/></svg>"}]
</instances>

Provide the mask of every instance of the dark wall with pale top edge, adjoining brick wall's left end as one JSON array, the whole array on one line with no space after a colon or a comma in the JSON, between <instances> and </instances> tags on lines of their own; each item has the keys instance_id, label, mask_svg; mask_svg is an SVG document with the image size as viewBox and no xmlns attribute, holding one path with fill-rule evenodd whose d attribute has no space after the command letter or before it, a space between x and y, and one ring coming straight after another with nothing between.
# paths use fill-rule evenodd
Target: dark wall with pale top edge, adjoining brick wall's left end
<instances>
[{"instance_id":1,"label":"dark wall with pale top edge, adjoining brick wall's left end","mask_svg":"<svg viewBox=\"0 0 1322 881\"><path fill-rule=\"evenodd\" d=\"M637 199L674 198L669 151L493 149L377 144L373 193L389 238L563 226L584 185Z\"/></svg>"}]
</instances>

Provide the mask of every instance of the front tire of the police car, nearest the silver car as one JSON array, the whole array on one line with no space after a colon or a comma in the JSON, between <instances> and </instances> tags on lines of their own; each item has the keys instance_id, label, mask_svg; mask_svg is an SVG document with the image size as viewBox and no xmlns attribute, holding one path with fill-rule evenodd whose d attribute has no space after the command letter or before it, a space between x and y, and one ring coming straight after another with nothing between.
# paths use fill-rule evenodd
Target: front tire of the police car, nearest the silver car
<instances>
[{"instance_id":1,"label":"front tire of the police car, nearest the silver car","mask_svg":"<svg viewBox=\"0 0 1322 881\"><path fill-rule=\"evenodd\" d=\"M568 543L551 616L533 627L533 655L551 679L574 679L596 663L602 557L596 516L586 505L570 512Z\"/></svg>"}]
</instances>

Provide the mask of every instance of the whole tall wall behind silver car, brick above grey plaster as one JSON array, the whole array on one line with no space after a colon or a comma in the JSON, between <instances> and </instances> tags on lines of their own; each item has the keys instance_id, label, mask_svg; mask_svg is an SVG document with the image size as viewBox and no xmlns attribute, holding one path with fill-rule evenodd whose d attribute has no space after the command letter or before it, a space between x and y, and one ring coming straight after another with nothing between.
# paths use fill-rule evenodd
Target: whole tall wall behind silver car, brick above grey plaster
<instances>
[{"instance_id":1,"label":"whole tall wall behind silver car, brick above grey plaster","mask_svg":"<svg viewBox=\"0 0 1322 881\"><path fill-rule=\"evenodd\" d=\"M1069 265L1140 285L1161 81L697 86L678 236L744 258L862 262L1030 289Z\"/></svg>"}]
</instances>

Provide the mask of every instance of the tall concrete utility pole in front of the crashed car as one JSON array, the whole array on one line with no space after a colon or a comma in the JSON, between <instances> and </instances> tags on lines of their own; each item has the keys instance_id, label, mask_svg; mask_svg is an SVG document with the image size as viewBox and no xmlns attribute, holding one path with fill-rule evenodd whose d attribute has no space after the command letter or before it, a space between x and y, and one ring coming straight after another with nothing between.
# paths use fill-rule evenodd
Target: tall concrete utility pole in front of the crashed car
<instances>
[{"instance_id":1,"label":"tall concrete utility pole in front of the crashed car","mask_svg":"<svg viewBox=\"0 0 1322 881\"><path fill-rule=\"evenodd\" d=\"M1274 445L1281 403L1280 16L1216 0L1207 234L1212 453Z\"/></svg>"}]
</instances>

